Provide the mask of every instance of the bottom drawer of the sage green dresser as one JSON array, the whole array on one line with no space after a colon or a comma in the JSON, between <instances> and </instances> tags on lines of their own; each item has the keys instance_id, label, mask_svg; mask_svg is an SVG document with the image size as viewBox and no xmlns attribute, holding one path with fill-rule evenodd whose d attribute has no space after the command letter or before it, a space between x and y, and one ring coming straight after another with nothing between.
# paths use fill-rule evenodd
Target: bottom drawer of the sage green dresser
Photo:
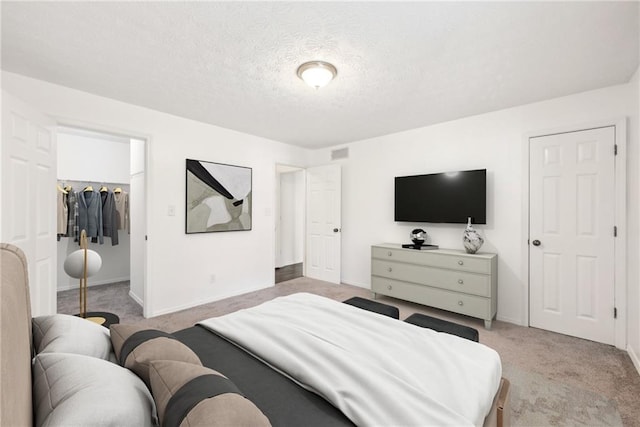
<instances>
[{"instance_id":1,"label":"bottom drawer of the sage green dresser","mask_svg":"<svg viewBox=\"0 0 640 427\"><path fill-rule=\"evenodd\" d=\"M376 293L453 311L454 313L486 320L493 318L491 300L489 298L399 282L383 277L372 277L371 289Z\"/></svg>"}]
</instances>

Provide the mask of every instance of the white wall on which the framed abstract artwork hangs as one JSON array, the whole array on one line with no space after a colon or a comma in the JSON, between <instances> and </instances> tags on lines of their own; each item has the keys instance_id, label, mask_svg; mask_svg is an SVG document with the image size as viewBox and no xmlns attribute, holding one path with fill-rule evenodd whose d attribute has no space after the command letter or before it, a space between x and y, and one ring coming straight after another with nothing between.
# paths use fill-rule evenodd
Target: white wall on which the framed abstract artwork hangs
<instances>
[{"instance_id":1,"label":"white wall on which the framed abstract artwork hangs","mask_svg":"<svg viewBox=\"0 0 640 427\"><path fill-rule=\"evenodd\" d=\"M13 73L2 86L65 124L148 141L147 316L273 285L275 164L304 166L305 150ZM185 234L186 158L253 168L251 231Z\"/></svg>"}]
</instances>

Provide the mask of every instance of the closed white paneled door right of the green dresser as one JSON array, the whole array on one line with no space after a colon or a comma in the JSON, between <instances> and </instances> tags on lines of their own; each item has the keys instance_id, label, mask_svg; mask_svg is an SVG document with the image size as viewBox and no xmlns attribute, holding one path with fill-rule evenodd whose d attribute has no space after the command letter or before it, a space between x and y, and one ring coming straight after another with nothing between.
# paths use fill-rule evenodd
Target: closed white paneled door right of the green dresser
<instances>
[{"instance_id":1,"label":"closed white paneled door right of the green dresser","mask_svg":"<svg viewBox=\"0 0 640 427\"><path fill-rule=\"evenodd\" d=\"M614 344L615 127L529 148L530 324Z\"/></svg>"}]
</instances>

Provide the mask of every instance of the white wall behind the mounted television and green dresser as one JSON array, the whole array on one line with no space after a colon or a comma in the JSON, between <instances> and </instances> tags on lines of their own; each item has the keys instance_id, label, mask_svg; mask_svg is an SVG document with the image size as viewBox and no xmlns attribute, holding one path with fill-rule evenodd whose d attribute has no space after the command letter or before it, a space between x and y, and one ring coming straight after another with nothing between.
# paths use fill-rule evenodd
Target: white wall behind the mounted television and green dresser
<instances>
[{"instance_id":1,"label":"white wall behind the mounted television and green dresser","mask_svg":"<svg viewBox=\"0 0 640 427\"><path fill-rule=\"evenodd\" d=\"M485 236L482 250L499 255L498 319L526 324L523 230L527 224L522 219L521 196L526 182L525 137L629 116L630 90L629 85L615 86L349 144L349 158L339 161L343 167L342 281L369 287L370 246L409 241L416 224L393 220L394 176L486 168L487 225L476 229ZM637 135L632 144L637 146ZM318 150L314 161L329 163L335 148ZM630 167L637 169L637 165L636 156ZM637 206L638 201L631 203ZM420 226L430 235L429 243L462 249L464 225ZM637 232L629 240L637 241ZM632 286L637 287L637 281Z\"/></svg>"}]
</instances>

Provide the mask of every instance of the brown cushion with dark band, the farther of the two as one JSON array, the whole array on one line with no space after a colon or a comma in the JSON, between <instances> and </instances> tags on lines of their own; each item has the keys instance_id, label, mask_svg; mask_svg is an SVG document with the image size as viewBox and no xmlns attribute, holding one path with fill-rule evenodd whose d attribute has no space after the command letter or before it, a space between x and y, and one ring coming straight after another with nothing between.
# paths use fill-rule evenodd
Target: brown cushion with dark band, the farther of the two
<instances>
[{"instance_id":1,"label":"brown cushion with dark band, the farther of the two","mask_svg":"<svg viewBox=\"0 0 640 427\"><path fill-rule=\"evenodd\" d=\"M173 335L135 325L111 325L111 342L120 365L131 369L149 386L149 363L178 360L202 365L200 358Z\"/></svg>"}]
</instances>

